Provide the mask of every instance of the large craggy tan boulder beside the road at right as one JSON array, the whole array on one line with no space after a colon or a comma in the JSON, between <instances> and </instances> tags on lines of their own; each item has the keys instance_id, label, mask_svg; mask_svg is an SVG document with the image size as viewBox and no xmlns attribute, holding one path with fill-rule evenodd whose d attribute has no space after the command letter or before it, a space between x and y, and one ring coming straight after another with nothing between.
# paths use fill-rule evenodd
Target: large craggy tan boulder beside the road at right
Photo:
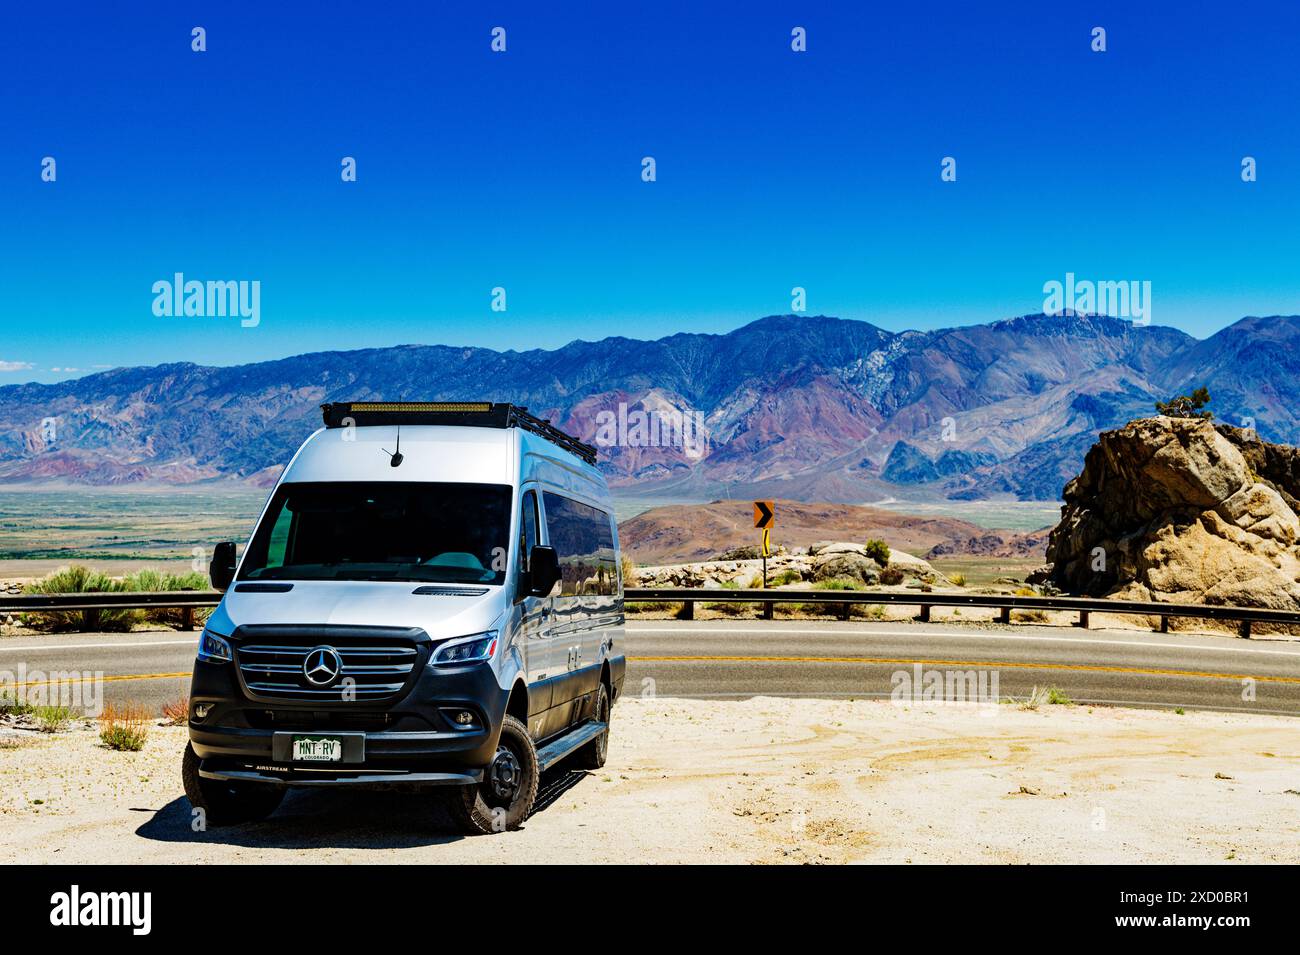
<instances>
[{"instance_id":1,"label":"large craggy tan boulder beside the road at right","mask_svg":"<svg viewBox=\"0 0 1300 955\"><path fill-rule=\"evenodd\" d=\"M1071 594L1300 609L1300 450L1199 418L1102 433L1048 542Z\"/></svg>"}]
</instances>

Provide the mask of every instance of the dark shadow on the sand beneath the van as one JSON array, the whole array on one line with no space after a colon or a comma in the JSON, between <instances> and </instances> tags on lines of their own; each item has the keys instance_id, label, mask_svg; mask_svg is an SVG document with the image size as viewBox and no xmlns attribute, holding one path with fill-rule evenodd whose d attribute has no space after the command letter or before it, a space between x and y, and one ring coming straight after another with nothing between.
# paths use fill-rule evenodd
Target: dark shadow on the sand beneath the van
<instances>
[{"instance_id":1,"label":"dark shadow on the sand beneath the van","mask_svg":"<svg viewBox=\"0 0 1300 955\"><path fill-rule=\"evenodd\" d=\"M554 806L590 773L555 768L538 781L533 813ZM274 815L260 822L191 829L190 800L178 796L156 811L135 834L155 842L216 843L242 848L413 848L459 842L437 790L290 789Z\"/></svg>"}]
</instances>

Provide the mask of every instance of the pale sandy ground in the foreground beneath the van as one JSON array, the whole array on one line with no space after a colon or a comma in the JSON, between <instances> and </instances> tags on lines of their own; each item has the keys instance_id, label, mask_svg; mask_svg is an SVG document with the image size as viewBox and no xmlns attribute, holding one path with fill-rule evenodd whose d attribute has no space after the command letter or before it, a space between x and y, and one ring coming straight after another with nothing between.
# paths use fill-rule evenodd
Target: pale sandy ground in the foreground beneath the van
<instances>
[{"instance_id":1,"label":"pale sandy ground in the foreground beneath the van","mask_svg":"<svg viewBox=\"0 0 1300 955\"><path fill-rule=\"evenodd\" d=\"M185 730L0 741L0 860L25 863L1297 863L1284 719L1083 707L627 699L610 761L524 829L462 838L421 794L292 794L190 830Z\"/></svg>"}]
</instances>

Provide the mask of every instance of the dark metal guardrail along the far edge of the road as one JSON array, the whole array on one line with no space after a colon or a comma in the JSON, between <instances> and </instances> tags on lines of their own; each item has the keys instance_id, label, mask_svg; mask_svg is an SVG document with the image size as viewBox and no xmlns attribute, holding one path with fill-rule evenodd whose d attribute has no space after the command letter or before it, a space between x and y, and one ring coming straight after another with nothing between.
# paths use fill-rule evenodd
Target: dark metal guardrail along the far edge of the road
<instances>
[{"instance_id":1,"label":"dark metal guardrail along the far edge of the road","mask_svg":"<svg viewBox=\"0 0 1300 955\"><path fill-rule=\"evenodd\" d=\"M863 591L863 590L727 590L727 589L658 589L628 587L628 602L660 600L682 604L681 618L693 620L697 603L758 603L763 617L772 618L777 603L824 603L849 617L853 604L901 604L918 607L918 618L930 620L932 607L985 607L1001 611L998 620L1011 622L1011 611L1063 611L1079 615L1079 626L1088 626L1089 613L1119 613L1160 617L1160 630L1169 630L1170 617L1227 620L1242 625L1242 635L1251 635L1251 624L1274 624L1300 629L1300 612L1273 611L1262 607L1225 607L1219 604L1158 603L1154 600L1110 600L1087 596L1015 596L1002 594L958 594L942 591ZM116 594L17 594L0 595L0 613L31 611L112 611L216 607L221 594L214 590L127 591Z\"/></svg>"}]
</instances>

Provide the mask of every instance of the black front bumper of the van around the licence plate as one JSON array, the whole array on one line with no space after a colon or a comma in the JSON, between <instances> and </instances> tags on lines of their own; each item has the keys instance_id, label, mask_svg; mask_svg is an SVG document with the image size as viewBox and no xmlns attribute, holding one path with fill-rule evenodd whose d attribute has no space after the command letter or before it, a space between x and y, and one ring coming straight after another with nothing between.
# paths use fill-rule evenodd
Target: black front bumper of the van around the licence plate
<instances>
[{"instance_id":1,"label":"black front bumper of the van around the licence plate","mask_svg":"<svg viewBox=\"0 0 1300 955\"><path fill-rule=\"evenodd\" d=\"M421 661L422 661L421 655ZM396 702L252 699L230 663L198 661L190 683L190 743L207 778L292 786L467 785L482 778L500 735L508 691L489 664L424 668ZM195 708L211 706L203 720ZM448 711L474 715L458 728ZM338 763L294 763L294 734L338 735Z\"/></svg>"}]
</instances>

